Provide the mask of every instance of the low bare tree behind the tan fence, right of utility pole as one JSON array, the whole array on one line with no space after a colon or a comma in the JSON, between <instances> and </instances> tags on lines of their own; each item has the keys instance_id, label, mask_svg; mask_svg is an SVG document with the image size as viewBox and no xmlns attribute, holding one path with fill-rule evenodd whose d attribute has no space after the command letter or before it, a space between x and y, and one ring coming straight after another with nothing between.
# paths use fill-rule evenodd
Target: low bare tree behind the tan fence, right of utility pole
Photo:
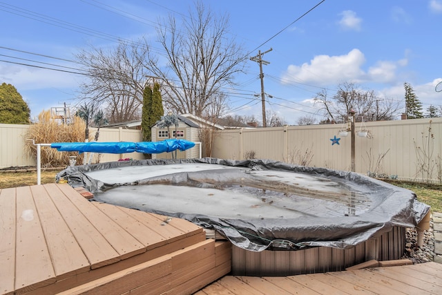
<instances>
[{"instance_id":1,"label":"low bare tree behind the tan fence, right of utility pole","mask_svg":"<svg viewBox=\"0 0 442 295\"><path fill-rule=\"evenodd\" d=\"M356 120L381 121L393 120L399 108L399 102L392 99L379 99L374 91L364 91L356 84L345 82L338 85L338 91L329 97L326 90L314 97L316 103L323 106L325 117L334 122L343 122L350 110L356 112Z\"/></svg>"}]
</instances>

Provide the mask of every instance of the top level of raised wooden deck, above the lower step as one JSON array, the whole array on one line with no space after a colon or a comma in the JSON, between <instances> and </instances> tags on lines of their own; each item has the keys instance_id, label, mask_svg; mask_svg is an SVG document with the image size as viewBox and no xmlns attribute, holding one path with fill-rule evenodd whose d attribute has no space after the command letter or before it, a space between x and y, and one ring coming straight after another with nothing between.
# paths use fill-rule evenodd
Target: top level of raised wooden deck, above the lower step
<instances>
[{"instance_id":1,"label":"top level of raised wooden deck, above the lower step","mask_svg":"<svg viewBox=\"0 0 442 295\"><path fill-rule=\"evenodd\" d=\"M1 189L0 213L0 294L57 294L206 240L189 221L90 202L68 184Z\"/></svg>"}]
</instances>

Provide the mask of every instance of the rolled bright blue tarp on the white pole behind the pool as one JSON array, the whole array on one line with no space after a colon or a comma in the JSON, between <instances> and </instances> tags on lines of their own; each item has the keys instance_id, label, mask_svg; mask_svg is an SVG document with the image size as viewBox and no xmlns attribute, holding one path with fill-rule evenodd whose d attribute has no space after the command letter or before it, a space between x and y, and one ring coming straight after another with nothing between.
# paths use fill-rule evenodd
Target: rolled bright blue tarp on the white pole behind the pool
<instances>
[{"instance_id":1,"label":"rolled bright blue tarp on the white pole behind the pool","mask_svg":"<svg viewBox=\"0 0 442 295\"><path fill-rule=\"evenodd\" d=\"M79 153L164 153L179 149L185 151L195 146L188 140L163 140L161 142L57 142L50 144L57 151L78 151Z\"/></svg>"}]
</instances>

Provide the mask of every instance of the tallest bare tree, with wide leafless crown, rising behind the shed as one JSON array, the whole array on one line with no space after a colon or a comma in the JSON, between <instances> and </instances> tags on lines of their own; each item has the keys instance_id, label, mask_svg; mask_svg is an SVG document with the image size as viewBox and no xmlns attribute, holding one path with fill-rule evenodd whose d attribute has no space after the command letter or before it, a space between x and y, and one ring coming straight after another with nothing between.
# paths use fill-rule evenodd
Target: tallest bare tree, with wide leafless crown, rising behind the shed
<instances>
[{"instance_id":1,"label":"tallest bare tree, with wide leafless crown, rising behind the shed","mask_svg":"<svg viewBox=\"0 0 442 295\"><path fill-rule=\"evenodd\" d=\"M172 15L157 29L158 41L165 51L167 66L148 52L152 74L163 79L163 102L169 111L204 117L220 115L225 97L222 87L233 84L233 78L244 67L242 48L229 36L229 19L215 16L202 2L182 23ZM209 106L215 106L208 110ZM218 107L221 106L221 107ZM215 112L214 112L215 111Z\"/></svg>"}]
</instances>

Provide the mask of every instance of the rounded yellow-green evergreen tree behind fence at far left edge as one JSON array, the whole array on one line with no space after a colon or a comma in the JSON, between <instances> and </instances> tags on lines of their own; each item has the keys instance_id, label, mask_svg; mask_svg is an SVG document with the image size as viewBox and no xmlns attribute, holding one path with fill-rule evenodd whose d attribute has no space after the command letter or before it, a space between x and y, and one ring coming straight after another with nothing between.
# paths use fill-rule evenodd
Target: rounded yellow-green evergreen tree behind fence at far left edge
<instances>
[{"instance_id":1,"label":"rounded yellow-green evergreen tree behind fence at far left edge","mask_svg":"<svg viewBox=\"0 0 442 295\"><path fill-rule=\"evenodd\" d=\"M29 124L30 109L11 84L0 85L0 123Z\"/></svg>"}]
</instances>

